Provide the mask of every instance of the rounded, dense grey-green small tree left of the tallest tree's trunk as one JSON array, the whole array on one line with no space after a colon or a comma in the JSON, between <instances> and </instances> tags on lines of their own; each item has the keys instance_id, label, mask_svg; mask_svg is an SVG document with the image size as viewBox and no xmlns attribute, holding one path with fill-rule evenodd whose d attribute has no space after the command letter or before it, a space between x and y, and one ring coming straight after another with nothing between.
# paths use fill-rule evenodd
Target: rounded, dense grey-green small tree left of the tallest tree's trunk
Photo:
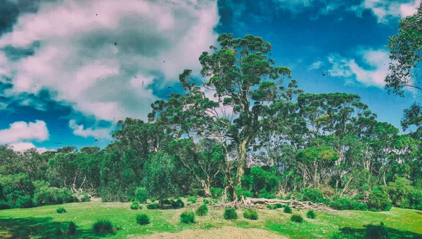
<instances>
[{"instance_id":1,"label":"rounded, dense grey-green small tree left of the tallest tree's trunk","mask_svg":"<svg viewBox=\"0 0 422 239\"><path fill-rule=\"evenodd\" d=\"M162 200L177 193L177 185L174 185L174 159L167 153L158 151L150 156L143 169L143 185L148 195Z\"/></svg>"}]
</instances>

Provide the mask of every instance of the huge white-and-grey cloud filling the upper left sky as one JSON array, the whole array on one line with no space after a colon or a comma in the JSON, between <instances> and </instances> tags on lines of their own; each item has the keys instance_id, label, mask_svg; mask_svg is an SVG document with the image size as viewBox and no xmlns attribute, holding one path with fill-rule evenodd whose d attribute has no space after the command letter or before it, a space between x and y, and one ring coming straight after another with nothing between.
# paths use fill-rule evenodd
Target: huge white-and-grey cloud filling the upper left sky
<instances>
[{"instance_id":1,"label":"huge white-and-grey cloud filling the upper left sky","mask_svg":"<svg viewBox=\"0 0 422 239\"><path fill-rule=\"evenodd\" d=\"M98 120L144 119L157 99L151 87L163 86L154 80L173 83L183 69L200 69L218 22L211 0L43 1L0 38L0 48L39 42L34 55L0 67L13 80L6 96L44 88Z\"/></svg>"}]
</instances>

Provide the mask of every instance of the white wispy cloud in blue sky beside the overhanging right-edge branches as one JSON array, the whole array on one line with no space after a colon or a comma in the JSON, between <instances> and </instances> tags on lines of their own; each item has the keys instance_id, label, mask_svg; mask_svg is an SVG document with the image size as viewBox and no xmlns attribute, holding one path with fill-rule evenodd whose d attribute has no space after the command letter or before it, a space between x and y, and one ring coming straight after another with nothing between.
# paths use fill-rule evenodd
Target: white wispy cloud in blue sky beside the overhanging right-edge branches
<instances>
[{"instance_id":1,"label":"white wispy cloud in blue sky beside the overhanging right-edge branches","mask_svg":"<svg viewBox=\"0 0 422 239\"><path fill-rule=\"evenodd\" d=\"M341 55L328 56L331 69L328 74L334 77L346 78L346 83L352 80L364 86L385 86L385 76L388 74L388 51L364 49L357 52L357 57L363 64L358 64L355 59L348 59Z\"/></svg>"}]
</instances>

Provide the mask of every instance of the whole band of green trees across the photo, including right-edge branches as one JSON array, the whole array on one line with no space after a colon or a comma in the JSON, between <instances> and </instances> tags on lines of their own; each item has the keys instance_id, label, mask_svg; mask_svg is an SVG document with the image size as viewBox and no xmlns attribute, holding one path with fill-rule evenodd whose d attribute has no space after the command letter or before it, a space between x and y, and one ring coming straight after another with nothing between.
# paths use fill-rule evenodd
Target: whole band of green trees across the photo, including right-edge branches
<instances>
[{"instance_id":1,"label":"whole band of green trees across the photo, including right-edge branches","mask_svg":"<svg viewBox=\"0 0 422 239\"><path fill-rule=\"evenodd\" d=\"M386 88L418 89L422 7L390 38ZM139 187L162 200L195 194L222 202L293 198L336 209L422 210L421 106L404 111L400 134L359 95L305 93L271 44L218 37L189 69L183 93L151 104L148 122L126 118L104 149L0 148L0 207L89 200L129 201ZM412 73L413 72L413 73Z\"/></svg>"}]
</instances>

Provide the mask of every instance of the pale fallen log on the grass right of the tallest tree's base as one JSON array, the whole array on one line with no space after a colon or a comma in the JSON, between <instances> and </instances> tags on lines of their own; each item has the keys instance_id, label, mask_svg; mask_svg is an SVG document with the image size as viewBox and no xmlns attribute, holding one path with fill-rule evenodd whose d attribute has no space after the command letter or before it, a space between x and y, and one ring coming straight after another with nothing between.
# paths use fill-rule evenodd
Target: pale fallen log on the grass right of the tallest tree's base
<instances>
[{"instance_id":1,"label":"pale fallen log on the grass right of the tallest tree's base","mask_svg":"<svg viewBox=\"0 0 422 239\"><path fill-rule=\"evenodd\" d=\"M244 198L242 199L243 205L245 207L260 207L263 208L261 205L274 205L276 203L281 203L284 205L289 205L293 208L300 208L300 209L307 209L307 210L318 210L318 211L325 211L325 212L337 212L337 210L333 210L331 207L323 203L312 203L309 201L301 202L298 200L281 200L281 199L268 199L268 198Z\"/></svg>"}]
</instances>

